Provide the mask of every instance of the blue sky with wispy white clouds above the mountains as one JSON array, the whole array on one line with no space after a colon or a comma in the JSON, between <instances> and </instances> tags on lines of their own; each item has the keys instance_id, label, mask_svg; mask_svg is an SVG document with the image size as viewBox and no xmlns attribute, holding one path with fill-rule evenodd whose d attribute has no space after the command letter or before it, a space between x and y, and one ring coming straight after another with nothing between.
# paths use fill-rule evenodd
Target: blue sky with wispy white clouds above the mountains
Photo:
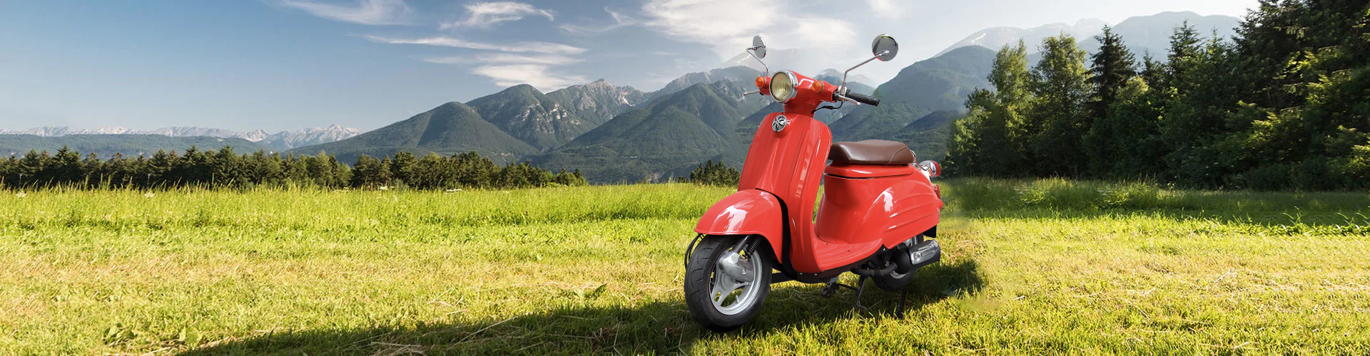
<instances>
[{"instance_id":1,"label":"blue sky with wispy white clouds above the mountains","mask_svg":"<svg viewBox=\"0 0 1370 356\"><path fill-rule=\"evenodd\" d=\"M1152 1L0 1L0 127L375 129L527 82L655 90L751 36L877 81L993 26L1162 11L1241 16L1255 0ZM821 49L821 51L812 51ZM812 64L819 66L819 64ZM818 70L806 68L806 70Z\"/></svg>"}]
</instances>

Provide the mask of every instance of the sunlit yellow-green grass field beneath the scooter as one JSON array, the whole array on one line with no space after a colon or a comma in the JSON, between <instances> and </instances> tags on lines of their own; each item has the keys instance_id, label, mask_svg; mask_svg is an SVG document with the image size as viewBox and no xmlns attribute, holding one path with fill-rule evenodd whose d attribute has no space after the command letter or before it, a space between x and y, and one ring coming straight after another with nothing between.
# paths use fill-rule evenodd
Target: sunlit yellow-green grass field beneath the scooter
<instances>
[{"instance_id":1,"label":"sunlit yellow-green grass field beneath the scooter","mask_svg":"<svg viewBox=\"0 0 1370 356\"><path fill-rule=\"evenodd\" d=\"M786 282L733 334L681 300L730 189L7 192L0 353L1370 353L1370 194L943 192L907 319Z\"/></svg>"}]
</instances>

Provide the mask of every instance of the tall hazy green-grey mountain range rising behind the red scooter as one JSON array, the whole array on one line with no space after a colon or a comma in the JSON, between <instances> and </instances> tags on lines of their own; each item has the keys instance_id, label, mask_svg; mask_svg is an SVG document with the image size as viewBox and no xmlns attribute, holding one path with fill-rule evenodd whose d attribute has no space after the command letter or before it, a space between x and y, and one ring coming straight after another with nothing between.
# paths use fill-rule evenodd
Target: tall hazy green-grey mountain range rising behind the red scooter
<instances>
[{"instance_id":1,"label":"tall hazy green-grey mountain range rising behind the red scooter","mask_svg":"<svg viewBox=\"0 0 1370 356\"><path fill-rule=\"evenodd\" d=\"M1149 51L1162 58L1169 34L1185 21L1201 30L1217 29L1219 36L1229 36L1238 22L1230 16L1163 12L1129 18L1114 30L1138 55ZM878 86L858 81L863 77L848 78L854 92L871 93L881 99L881 105L844 104L838 110L819 111L815 118L829 125L836 141L893 140L908 144L919 159L941 159L947 152L949 127L963 115L966 96L977 88L989 86L986 77L999 47L1023 40L1034 51L1041 37L1069 33L1081 38L1081 47L1088 51L1097 48L1089 37L1100 33L1103 26L1100 21L1081 21L1071 26L1058 23L981 30L937 56L904 67ZM771 70L781 70L785 67L777 63L800 55L797 49L778 49L773 51L767 63L773 64ZM306 155L322 151L342 162L355 162L360 155L389 156L400 151L418 155L477 151L499 163L532 160L544 168L581 170L592 182L656 181L688 175L704 160L743 164L762 119L781 110L769 97L743 96L755 89L755 78L763 74L755 66L748 67L751 64L743 63L743 59L738 56L726 62L727 67L681 75L653 92L616 86L604 79L549 93L515 85L466 103L445 103L360 134L316 134L311 145L301 144L307 140L269 138L260 131L238 134L169 127L163 133L241 137L245 140L232 144L238 148L242 142L285 147L292 153ZM806 74L833 84L841 81L837 70ZM45 130L38 134L70 133L67 129ZM340 130L347 129L334 126L326 131ZM4 147L0 140L0 148Z\"/></svg>"}]
</instances>

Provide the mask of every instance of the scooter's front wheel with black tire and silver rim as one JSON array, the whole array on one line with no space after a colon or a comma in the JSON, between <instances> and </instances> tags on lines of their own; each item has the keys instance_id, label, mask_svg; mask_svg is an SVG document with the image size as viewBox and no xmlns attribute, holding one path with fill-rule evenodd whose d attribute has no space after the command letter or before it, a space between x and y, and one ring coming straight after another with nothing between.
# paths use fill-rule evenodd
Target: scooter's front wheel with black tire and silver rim
<instances>
[{"instance_id":1,"label":"scooter's front wheel with black tire and silver rim","mask_svg":"<svg viewBox=\"0 0 1370 356\"><path fill-rule=\"evenodd\" d=\"M747 240L738 256L740 263L752 267L751 281L741 281L719 270L718 262L734 253L743 237L706 236L689 255L685 270L685 305L689 314L704 329L715 333L737 330L760 311L766 294L770 293L771 255L766 240L752 236ZM741 266L741 264L738 264ZM744 277L745 279L745 277ZM729 290L738 281L747 285ZM718 286L715 289L715 285Z\"/></svg>"}]
</instances>

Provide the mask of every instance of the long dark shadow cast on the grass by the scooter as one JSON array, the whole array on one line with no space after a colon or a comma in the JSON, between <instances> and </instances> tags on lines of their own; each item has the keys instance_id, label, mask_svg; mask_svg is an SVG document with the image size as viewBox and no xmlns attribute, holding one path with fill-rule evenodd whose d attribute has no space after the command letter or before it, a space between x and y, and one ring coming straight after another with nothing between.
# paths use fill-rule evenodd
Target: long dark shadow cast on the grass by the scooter
<instances>
[{"instance_id":1,"label":"long dark shadow cast on the grass by the scooter","mask_svg":"<svg viewBox=\"0 0 1370 356\"><path fill-rule=\"evenodd\" d=\"M907 307L918 309L951 296L973 294L982 283L974 260L927 266L908 286ZM730 334L703 330L685 304L673 298L632 307L559 308L474 323L274 333L211 344L184 355L675 353L689 352L700 340L764 337L847 318L897 318L899 293L884 292L871 282L862 297L870 311L859 314L849 308L851 290L823 300L818 297L821 288L796 282L774 285L758 316Z\"/></svg>"}]
</instances>

